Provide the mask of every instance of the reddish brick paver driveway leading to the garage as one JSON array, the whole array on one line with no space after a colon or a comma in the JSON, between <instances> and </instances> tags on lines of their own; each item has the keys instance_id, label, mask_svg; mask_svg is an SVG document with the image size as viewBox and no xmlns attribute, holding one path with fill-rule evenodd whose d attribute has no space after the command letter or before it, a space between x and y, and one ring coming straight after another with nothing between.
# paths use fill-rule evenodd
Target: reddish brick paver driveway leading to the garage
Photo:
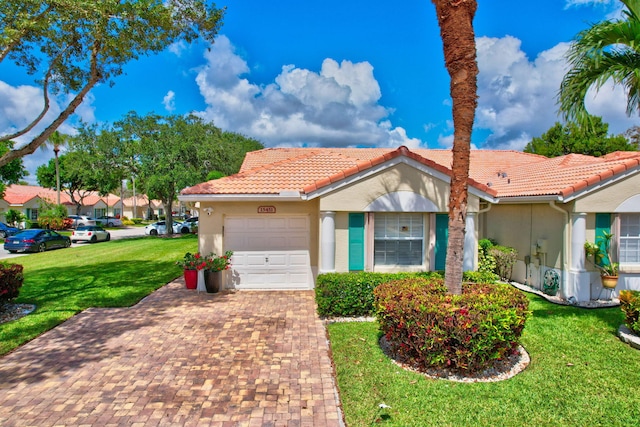
<instances>
[{"instance_id":1,"label":"reddish brick paver driveway leading to the garage","mask_svg":"<svg viewBox=\"0 0 640 427\"><path fill-rule=\"evenodd\" d=\"M312 291L180 281L0 358L0 425L341 426Z\"/></svg>"}]
</instances>

